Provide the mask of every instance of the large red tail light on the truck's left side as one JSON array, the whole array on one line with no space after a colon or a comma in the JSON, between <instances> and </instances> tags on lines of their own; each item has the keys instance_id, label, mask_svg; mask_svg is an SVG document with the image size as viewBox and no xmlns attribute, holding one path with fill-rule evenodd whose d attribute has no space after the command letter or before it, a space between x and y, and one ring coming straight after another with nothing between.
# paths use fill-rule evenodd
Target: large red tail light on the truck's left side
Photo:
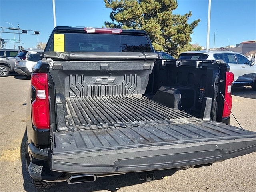
<instances>
[{"instance_id":1,"label":"large red tail light on the truck's left side","mask_svg":"<svg viewBox=\"0 0 256 192\"><path fill-rule=\"evenodd\" d=\"M48 75L33 73L31 84L36 89L36 99L31 104L32 122L38 129L48 129L50 127Z\"/></svg>"}]
</instances>

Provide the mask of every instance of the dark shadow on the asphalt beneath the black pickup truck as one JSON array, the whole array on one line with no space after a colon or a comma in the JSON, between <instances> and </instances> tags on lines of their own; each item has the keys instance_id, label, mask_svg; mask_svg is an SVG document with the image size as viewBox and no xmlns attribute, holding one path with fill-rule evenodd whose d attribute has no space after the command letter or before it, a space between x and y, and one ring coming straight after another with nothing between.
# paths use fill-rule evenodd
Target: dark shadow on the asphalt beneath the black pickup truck
<instances>
[{"instance_id":1,"label":"dark shadow on the asphalt beneath the black pickup truck","mask_svg":"<svg viewBox=\"0 0 256 192\"><path fill-rule=\"evenodd\" d=\"M46 192L89 192L89 191L99 191L99 190L106 190L111 192L117 192L120 188L126 186L133 186L137 184L143 184L145 181L141 181L138 178L138 173L127 173L124 175L118 176L109 176L104 178L97 178L95 182L87 182L87 183L80 183L80 184L68 184L67 182L59 182L56 186L51 188L44 188L44 189L36 189L33 185L33 181L30 178L27 168L26 168L26 141L27 135L26 132L22 138L21 143L21 162L22 162L22 176L23 176L23 187L25 191L28 192L39 192L39 191L46 191ZM168 177L173 175L176 170L159 170L155 171L155 180L162 180L164 177ZM150 181L154 182L154 181Z\"/></svg>"}]
</instances>

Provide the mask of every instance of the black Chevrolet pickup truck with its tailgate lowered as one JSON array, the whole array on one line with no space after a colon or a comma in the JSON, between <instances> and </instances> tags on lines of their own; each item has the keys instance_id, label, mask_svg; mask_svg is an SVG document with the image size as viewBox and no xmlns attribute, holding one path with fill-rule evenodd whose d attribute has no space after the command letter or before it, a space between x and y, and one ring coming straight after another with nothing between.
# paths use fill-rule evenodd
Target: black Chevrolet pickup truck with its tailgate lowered
<instances>
[{"instance_id":1,"label":"black Chevrolet pickup truck with its tailgate lowered","mask_svg":"<svg viewBox=\"0 0 256 192\"><path fill-rule=\"evenodd\" d=\"M54 28L31 76L26 162L36 187L210 166L256 151L229 125L233 74L162 60L142 30Z\"/></svg>"}]
</instances>

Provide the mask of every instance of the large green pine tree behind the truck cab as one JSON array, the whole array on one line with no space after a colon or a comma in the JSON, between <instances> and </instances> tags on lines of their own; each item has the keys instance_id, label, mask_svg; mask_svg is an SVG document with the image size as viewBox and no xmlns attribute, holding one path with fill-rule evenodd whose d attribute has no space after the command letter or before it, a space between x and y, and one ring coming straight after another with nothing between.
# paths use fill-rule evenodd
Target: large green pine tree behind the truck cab
<instances>
[{"instance_id":1,"label":"large green pine tree behind the truck cab","mask_svg":"<svg viewBox=\"0 0 256 192\"><path fill-rule=\"evenodd\" d=\"M200 19L188 24L192 12L172 14L177 0L104 0L111 8L109 28L142 29L150 37L155 50L163 50L177 57L181 51L191 48L193 29Z\"/></svg>"}]
</instances>

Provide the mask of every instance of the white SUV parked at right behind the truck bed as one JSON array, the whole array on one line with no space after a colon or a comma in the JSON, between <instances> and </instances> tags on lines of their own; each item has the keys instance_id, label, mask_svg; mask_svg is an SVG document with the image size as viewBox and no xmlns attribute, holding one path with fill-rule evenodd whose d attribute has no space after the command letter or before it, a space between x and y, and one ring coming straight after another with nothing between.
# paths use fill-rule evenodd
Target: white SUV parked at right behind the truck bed
<instances>
[{"instance_id":1,"label":"white SUV parked at right behind the truck bed","mask_svg":"<svg viewBox=\"0 0 256 192\"><path fill-rule=\"evenodd\" d=\"M187 51L180 54L178 59L223 60L234 73L233 87L252 86L256 90L256 66L244 55L232 51Z\"/></svg>"}]
</instances>

